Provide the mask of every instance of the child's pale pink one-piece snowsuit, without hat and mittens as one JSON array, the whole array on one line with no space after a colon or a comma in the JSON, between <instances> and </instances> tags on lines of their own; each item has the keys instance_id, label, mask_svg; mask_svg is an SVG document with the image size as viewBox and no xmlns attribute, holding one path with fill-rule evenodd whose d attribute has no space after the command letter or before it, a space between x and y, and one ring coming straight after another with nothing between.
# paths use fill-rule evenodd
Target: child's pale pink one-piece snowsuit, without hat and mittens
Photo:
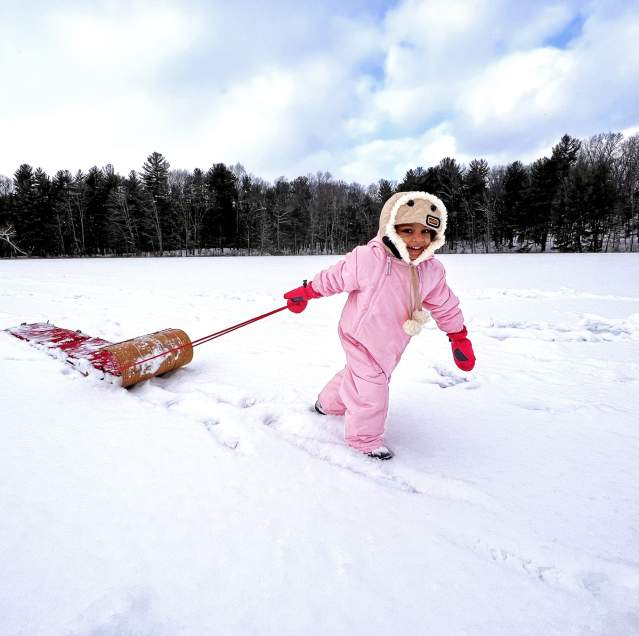
<instances>
[{"instance_id":1,"label":"child's pale pink one-piece snowsuit, without hat and mittens","mask_svg":"<svg viewBox=\"0 0 639 636\"><path fill-rule=\"evenodd\" d=\"M410 315L410 267L374 238L313 278L322 296L348 292L338 328L346 367L322 389L319 402L329 415L345 415L346 442L361 452L384 443L388 383L410 340L402 328ZM430 256L416 271L422 306L442 331L460 331L464 318L444 266Z\"/></svg>"}]
</instances>

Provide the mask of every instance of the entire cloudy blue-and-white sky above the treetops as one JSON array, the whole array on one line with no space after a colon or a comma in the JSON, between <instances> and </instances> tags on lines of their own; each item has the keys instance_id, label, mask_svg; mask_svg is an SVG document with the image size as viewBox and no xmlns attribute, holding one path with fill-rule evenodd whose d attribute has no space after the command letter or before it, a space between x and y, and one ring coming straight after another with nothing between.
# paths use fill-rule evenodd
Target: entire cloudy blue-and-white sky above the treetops
<instances>
[{"instance_id":1,"label":"entire cloudy blue-and-white sky above the treetops","mask_svg":"<svg viewBox=\"0 0 639 636\"><path fill-rule=\"evenodd\" d=\"M638 41L636 0L0 0L0 174L528 162L639 130Z\"/></svg>"}]
</instances>

